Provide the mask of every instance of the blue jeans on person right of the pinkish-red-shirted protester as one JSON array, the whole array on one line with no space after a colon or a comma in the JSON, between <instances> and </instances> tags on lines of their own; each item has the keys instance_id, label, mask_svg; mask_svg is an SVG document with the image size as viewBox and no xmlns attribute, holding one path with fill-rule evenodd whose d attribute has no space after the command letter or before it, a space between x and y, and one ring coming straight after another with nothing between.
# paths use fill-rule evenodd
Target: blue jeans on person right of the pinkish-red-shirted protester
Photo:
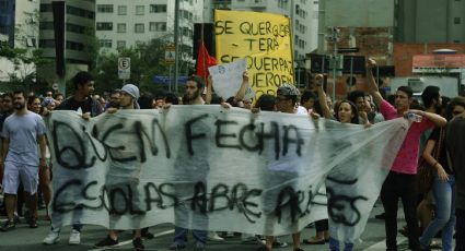
<instances>
[{"instance_id":1,"label":"blue jeans on person right of the pinkish-red-shirted protester","mask_svg":"<svg viewBox=\"0 0 465 251\"><path fill-rule=\"evenodd\" d=\"M450 175L449 181L441 181L434 175L433 196L435 200L435 218L420 237L422 247L428 247L431 239L442 229L442 250L452 250L452 236L455 226L455 177Z\"/></svg>"}]
</instances>

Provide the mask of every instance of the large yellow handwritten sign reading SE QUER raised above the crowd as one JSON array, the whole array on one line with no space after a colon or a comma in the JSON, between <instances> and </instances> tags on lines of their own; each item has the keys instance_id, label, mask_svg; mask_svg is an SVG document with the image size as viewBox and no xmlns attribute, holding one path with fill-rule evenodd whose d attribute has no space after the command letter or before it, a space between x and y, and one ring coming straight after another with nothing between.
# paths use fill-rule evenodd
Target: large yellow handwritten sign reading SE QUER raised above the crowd
<instances>
[{"instance_id":1,"label":"large yellow handwritten sign reading SE QUER raised above the crowd","mask_svg":"<svg viewBox=\"0 0 465 251\"><path fill-rule=\"evenodd\" d=\"M214 10L214 33L218 63L245 58L256 97L261 94L275 95L281 84L294 83L292 34L288 17Z\"/></svg>"}]
</instances>

